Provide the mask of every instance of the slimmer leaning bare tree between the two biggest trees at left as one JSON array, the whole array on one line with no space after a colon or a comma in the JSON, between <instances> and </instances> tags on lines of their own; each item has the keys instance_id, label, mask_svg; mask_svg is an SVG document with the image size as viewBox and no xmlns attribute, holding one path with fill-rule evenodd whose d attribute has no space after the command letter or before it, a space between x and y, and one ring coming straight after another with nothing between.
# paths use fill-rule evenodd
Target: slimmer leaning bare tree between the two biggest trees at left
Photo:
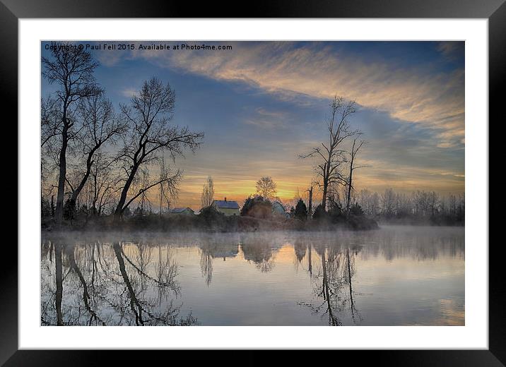
<instances>
[{"instance_id":1,"label":"slimmer leaning bare tree between the two biggest trees at left","mask_svg":"<svg viewBox=\"0 0 506 367\"><path fill-rule=\"evenodd\" d=\"M76 207L78 195L90 177L96 153L106 143L114 143L115 138L125 130L125 124L116 119L112 102L107 100L103 92L81 100L78 111L81 124L78 140L85 163L83 172L80 172L81 179L73 188L69 200L71 210Z\"/></svg>"}]
</instances>

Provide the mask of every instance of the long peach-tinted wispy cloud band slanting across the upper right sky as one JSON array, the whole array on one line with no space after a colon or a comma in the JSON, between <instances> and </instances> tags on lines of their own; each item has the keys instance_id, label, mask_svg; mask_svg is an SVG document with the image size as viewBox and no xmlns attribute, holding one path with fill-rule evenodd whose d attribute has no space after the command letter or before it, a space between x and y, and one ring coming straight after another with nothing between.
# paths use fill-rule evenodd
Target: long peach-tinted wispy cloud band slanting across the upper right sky
<instances>
[{"instance_id":1,"label":"long peach-tinted wispy cloud band slanting across the upper right sky","mask_svg":"<svg viewBox=\"0 0 506 367\"><path fill-rule=\"evenodd\" d=\"M457 46L442 42L439 47L449 54ZM343 95L401 121L440 131L441 147L459 145L464 136L461 69L435 73L420 66L371 61L331 47L294 47L290 42L237 42L228 52L137 51L135 56L216 80L240 80L284 98Z\"/></svg>"}]
</instances>

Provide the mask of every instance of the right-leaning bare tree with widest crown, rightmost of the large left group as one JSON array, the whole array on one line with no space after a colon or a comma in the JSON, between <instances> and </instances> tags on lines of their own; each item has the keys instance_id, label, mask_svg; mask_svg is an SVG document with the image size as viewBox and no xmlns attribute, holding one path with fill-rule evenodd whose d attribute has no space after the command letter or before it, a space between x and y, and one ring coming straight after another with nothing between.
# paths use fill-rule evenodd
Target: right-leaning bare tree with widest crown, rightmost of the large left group
<instances>
[{"instance_id":1,"label":"right-leaning bare tree with widest crown, rightmost of the large left group","mask_svg":"<svg viewBox=\"0 0 506 367\"><path fill-rule=\"evenodd\" d=\"M119 152L125 178L114 210L115 221L121 219L124 210L133 200L153 186L166 183L175 187L180 180L180 170L175 174L167 171L162 178L150 181L139 191L129 195L131 184L142 164L157 160L162 151L169 152L174 162L175 157L183 155L184 150L194 152L199 148L204 133L189 131L187 127L171 126L174 110L174 90L168 83L163 85L154 77L143 83L141 90L131 97L128 105L121 105L122 116L129 124L129 133L125 135L124 146Z\"/></svg>"}]
</instances>

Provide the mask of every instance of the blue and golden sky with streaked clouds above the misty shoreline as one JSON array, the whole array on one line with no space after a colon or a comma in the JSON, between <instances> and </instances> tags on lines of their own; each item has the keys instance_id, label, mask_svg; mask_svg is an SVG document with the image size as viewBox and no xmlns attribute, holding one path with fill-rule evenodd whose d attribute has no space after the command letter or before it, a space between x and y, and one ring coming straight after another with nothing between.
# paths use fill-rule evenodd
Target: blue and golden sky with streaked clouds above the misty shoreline
<instances>
[{"instance_id":1,"label":"blue and golden sky with streaked clouds above the misty shoreline","mask_svg":"<svg viewBox=\"0 0 506 367\"><path fill-rule=\"evenodd\" d=\"M208 175L215 199L240 204L261 176L272 177L282 200L305 191L316 161L299 155L328 140L334 95L355 100L349 121L368 142L356 188L464 193L464 42L81 43L102 45L90 51L100 63L95 77L117 112L156 76L175 90L172 124L204 131L201 148L174 164L184 171L176 206L199 209ZM52 90L42 79L42 95Z\"/></svg>"}]
</instances>

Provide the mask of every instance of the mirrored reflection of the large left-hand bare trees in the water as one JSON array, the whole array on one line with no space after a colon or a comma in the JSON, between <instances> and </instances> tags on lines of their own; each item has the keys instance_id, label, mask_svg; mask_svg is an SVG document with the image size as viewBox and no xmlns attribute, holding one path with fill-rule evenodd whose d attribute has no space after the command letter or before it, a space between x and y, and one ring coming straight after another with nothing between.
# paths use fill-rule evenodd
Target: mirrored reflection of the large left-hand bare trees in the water
<instances>
[{"instance_id":1,"label":"mirrored reflection of the large left-hand bare trees in the water","mask_svg":"<svg viewBox=\"0 0 506 367\"><path fill-rule=\"evenodd\" d=\"M168 246L47 241L42 260L42 325L197 324L175 302L180 285Z\"/></svg>"}]
</instances>

